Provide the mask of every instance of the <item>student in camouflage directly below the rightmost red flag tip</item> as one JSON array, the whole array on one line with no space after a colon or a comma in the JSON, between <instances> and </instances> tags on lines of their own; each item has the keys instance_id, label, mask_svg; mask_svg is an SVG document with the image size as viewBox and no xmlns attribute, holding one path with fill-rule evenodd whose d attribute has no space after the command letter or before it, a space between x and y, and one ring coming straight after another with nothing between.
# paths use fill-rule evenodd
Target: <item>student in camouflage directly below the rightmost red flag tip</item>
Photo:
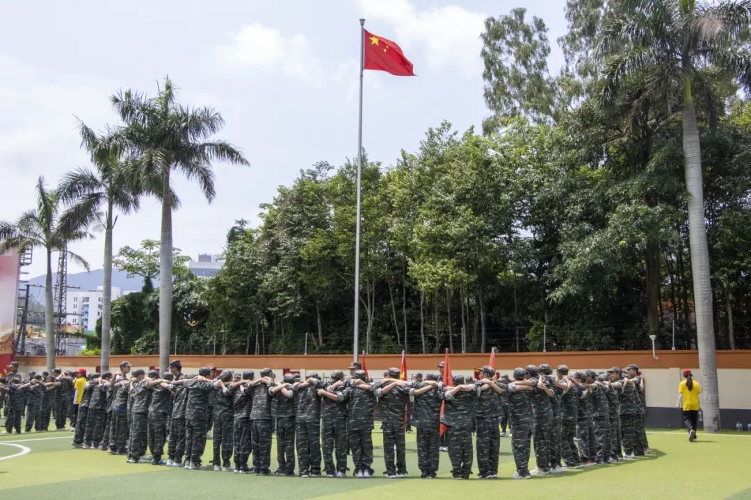
<instances>
[{"instance_id":1,"label":"student in camouflage directly below the rightmost red flag tip","mask_svg":"<svg viewBox=\"0 0 751 500\"><path fill-rule=\"evenodd\" d=\"M481 367L480 374L480 400L475 412L478 475L480 478L492 479L498 477L501 445L498 420L502 413L501 398L506 386L493 381L496 370L491 367Z\"/></svg>"}]
</instances>

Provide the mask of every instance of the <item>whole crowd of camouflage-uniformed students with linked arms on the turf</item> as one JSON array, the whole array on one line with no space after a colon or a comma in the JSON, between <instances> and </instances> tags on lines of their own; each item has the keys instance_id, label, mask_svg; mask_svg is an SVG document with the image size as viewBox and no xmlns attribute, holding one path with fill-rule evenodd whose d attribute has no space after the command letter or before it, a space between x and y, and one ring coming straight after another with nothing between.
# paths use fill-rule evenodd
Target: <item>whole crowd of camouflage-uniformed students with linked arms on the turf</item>
<instances>
[{"instance_id":1,"label":"whole crowd of camouflage-uniformed students with linked arms on the turf","mask_svg":"<svg viewBox=\"0 0 751 500\"><path fill-rule=\"evenodd\" d=\"M438 367L440 373L415 373L409 382L391 368L374 382L359 363L348 367L348 377L337 370L326 379L288 373L281 381L270 368L256 376L253 370L204 367L188 376L179 360L161 375L131 373L123 361L116 374L56 368L28 379L12 364L0 380L0 405L5 401L7 433L21 432L24 413L27 433L49 430L54 415L56 430L65 430L70 419L74 448L127 456L131 464L235 474L344 478L351 471L371 478L375 420L381 422L388 478L408 475L405 433L412 427L421 478L427 479L436 478L441 451L448 451L455 479L472 475L475 453L478 477L498 478L507 427L517 479L636 460L649 451L644 382L635 364L600 373L529 365L511 377L486 366L478 379L453 376L448 384L443 363ZM201 457L212 427L213 460L207 466ZM272 472L274 432L278 469Z\"/></svg>"}]
</instances>

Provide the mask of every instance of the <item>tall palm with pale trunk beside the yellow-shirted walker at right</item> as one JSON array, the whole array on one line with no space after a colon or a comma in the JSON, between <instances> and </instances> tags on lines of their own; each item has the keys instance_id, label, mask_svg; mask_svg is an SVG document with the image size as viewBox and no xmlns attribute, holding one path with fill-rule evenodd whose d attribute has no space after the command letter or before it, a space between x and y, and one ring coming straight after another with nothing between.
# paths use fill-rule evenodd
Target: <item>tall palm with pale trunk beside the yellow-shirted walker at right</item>
<instances>
[{"instance_id":1,"label":"tall palm with pale trunk beside the yellow-shirted walker at right","mask_svg":"<svg viewBox=\"0 0 751 500\"><path fill-rule=\"evenodd\" d=\"M689 192L689 246L693 275L696 337L704 385L704 429L719 431L719 394L704 223L701 149L695 98L713 103L707 68L726 73L751 89L748 40L751 0L620 0L606 11L598 55L605 62L602 103L614 102L623 85L638 77L658 99L682 103L683 157ZM709 112L713 106L708 106Z\"/></svg>"}]
</instances>

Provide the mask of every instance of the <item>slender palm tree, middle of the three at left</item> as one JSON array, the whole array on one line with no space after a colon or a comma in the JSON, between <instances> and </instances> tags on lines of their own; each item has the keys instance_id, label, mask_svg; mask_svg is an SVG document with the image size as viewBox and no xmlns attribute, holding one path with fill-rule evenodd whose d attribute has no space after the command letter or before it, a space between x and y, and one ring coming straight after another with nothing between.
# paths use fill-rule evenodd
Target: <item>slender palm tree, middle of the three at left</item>
<instances>
[{"instance_id":1,"label":"slender palm tree, middle of the three at left","mask_svg":"<svg viewBox=\"0 0 751 500\"><path fill-rule=\"evenodd\" d=\"M112 310L112 232L117 222L115 209L127 214L138 209L138 193L121 161L121 150L110 137L98 136L86 124L80 123L81 145L89 151L96 172L77 169L62 179L58 193L63 202L71 205L62 220L73 220L89 226L101 222L104 226L104 289L101 307L101 371L110 370L110 316ZM104 218L100 212L104 208Z\"/></svg>"}]
</instances>

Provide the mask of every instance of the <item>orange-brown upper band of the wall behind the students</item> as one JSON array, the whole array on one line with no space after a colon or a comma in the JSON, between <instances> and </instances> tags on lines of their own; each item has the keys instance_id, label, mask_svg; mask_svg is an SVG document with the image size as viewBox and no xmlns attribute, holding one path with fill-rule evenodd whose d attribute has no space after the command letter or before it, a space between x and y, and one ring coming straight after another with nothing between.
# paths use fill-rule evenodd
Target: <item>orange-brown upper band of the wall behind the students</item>
<instances>
[{"instance_id":1,"label":"orange-brown upper band of the wall behind the students","mask_svg":"<svg viewBox=\"0 0 751 500\"><path fill-rule=\"evenodd\" d=\"M640 368L698 368L696 351L658 351L657 357L652 357L651 351L596 351L596 352L513 352L498 353L496 355L496 369L513 370L514 367L524 367L527 364L547 363L555 368L559 364L567 364L572 369L625 367L629 363L636 363ZM349 366L351 355L178 355L170 359L180 359L183 367L198 368L205 366L258 368L270 367L278 370L283 368L306 370L336 370ZM44 367L44 356L17 356L15 358L22 366ZM435 371L444 355L407 355L409 370ZM99 364L98 356L58 356L57 366L95 367ZM159 357L156 355L128 355L112 356L110 367L116 368L120 361L128 360L137 367L158 366ZM401 355L368 355L366 364L368 370L386 370L389 367L399 367ZM454 370L472 370L487 364L487 354L452 354L449 356L451 368ZM751 351L718 351L717 368L749 368L751 367Z\"/></svg>"}]
</instances>

